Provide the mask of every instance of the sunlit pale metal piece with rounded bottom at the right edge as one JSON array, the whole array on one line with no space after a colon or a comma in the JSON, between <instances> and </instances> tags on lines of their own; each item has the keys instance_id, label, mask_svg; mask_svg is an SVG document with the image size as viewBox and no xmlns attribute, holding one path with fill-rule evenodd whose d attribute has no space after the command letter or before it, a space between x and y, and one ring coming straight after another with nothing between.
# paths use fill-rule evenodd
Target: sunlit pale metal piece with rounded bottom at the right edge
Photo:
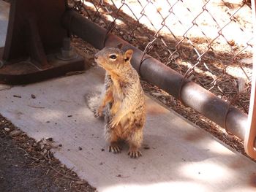
<instances>
[{"instance_id":1,"label":"sunlit pale metal piece with rounded bottom at the right edge","mask_svg":"<svg viewBox=\"0 0 256 192\"><path fill-rule=\"evenodd\" d=\"M256 22L256 1L252 1L253 23ZM255 34L255 31L254 31ZM254 40L254 42L256 42ZM256 159L256 58L254 55L252 68L252 89L249 104L248 124L246 127L246 134L244 138L244 149L246 153Z\"/></svg>"}]
</instances>

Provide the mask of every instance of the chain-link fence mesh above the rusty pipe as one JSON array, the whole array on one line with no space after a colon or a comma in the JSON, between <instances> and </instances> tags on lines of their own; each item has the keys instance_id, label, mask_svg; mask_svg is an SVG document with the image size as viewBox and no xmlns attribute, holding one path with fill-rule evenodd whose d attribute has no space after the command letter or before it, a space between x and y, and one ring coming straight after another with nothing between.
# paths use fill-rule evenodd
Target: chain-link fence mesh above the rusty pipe
<instances>
[{"instance_id":1,"label":"chain-link fence mesh above the rusty pipe","mask_svg":"<svg viewBox=\"0 0 256 192\"><path fill-rule=\"evenodd\" d=\"M145 55L248 113L250 1L72 0L69 4Z\"/></svg>"}]
</instances>

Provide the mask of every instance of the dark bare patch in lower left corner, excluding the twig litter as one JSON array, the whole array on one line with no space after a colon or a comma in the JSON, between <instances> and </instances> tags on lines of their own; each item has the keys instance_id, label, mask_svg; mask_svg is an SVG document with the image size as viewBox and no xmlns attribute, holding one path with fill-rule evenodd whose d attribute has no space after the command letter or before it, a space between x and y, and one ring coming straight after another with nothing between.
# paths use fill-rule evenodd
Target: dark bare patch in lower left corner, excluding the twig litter
<instances>
[{"instance_id":1,"label":"dark bare patch in lower left corner, excluding the twig litter","mask_svg":"<svg viewBox=\"0 0 256 192\"><path fill-rule=\"evenodd\" d=\"M11 137L0 138L1 191L67 191L58 186L43 166L29 166L31 161Z\"/></svg>"}]
</instances>

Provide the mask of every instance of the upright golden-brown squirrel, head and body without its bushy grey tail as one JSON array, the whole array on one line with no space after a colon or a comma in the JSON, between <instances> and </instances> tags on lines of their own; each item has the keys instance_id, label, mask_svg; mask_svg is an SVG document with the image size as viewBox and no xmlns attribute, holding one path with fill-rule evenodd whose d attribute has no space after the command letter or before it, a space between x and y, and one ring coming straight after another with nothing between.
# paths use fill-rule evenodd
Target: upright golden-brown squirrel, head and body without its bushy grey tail
<instances>
[{"instance_id":1,"label":"upright golden-brown squirrel, head and body without its bushy grey tail","mask_svg":"<svg viewBox=\"0 0 256 192\"><path fill-rule=\"evenodd\" d=\"M95 55L95 61L106 70L105 93L96 116L105 110L105 138L110 143L109 151L121 153L120 141L129 144L128 155L138 158L143 141L143 126L146 121L146 106L140 77L130 64L132 50L105 47Z\"/></svg>"}]
</instances>

